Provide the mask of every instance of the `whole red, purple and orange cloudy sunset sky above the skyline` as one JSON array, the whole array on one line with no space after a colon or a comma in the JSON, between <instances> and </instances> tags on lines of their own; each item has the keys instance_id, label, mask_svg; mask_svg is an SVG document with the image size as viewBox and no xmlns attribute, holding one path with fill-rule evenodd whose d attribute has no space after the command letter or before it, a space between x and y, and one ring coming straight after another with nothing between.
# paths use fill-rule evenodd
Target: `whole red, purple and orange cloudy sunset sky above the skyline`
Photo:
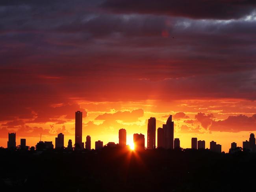
<instances>
[{"instance_id":1,"label":"whole red, purple and orange cloudy sunset sky above the skyline","mask_svg":"<svg viewBox=\"0 0 256 192\"><path fill-rule=\"evenodd\" d=\"M256 134L254 0L1 0L0 42L2 147L74 144L75 111L93 148L169 115L182 148Z\"/></svg>"}]
</instances>

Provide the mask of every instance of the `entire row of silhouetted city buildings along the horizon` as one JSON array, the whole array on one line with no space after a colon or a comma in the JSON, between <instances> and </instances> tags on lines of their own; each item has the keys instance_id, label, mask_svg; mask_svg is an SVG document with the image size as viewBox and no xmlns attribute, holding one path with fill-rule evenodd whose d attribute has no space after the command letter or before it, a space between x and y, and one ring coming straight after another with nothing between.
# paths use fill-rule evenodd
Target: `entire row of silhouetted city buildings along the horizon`
<instances>
[{"instance_id":1,"label":"entire row of silhouetted city buildings along the horizon","mask_svg":"<svg viewBox=\"0 0 256 192\"><path fill-rule=\"evenodd\" d=\"M75 113L76 120L75 120L75 143L74 147L72 145L72 140L69 139L67 150L82 150L87 149L91 150L91 137L87 135L85 145L82 142L82 117L83 113L81 111L76 111ZM145 150L145 135L135 133L133 135L134 140L134 150L140 151ZM108 147L114 147L116 144L114 142L109 142L107 144ZM119 146L124 147L126 146L126 129L119 129ZM9 133L9 139L7 142L8 149L15 149L16 148L16 133ZM25 150L28 148L26 146L26 139L20 139L20 149ZM50 149L54 148L52 141L39 141L36 145L38 150ZM64 135L59 133L58 136L55 138L55 148L56 149L63 149L64 147ZM96 141L95 142L95 150L99 150L103 148L103 141ZM164 149L175 149L180 148L180 139L174 138L174 122L172 120L172 116L170 115L166 121L166 124L163 124L162 127L157 129L157 145L156 145L156 118L150 117L148 119L147 125L147 149L153 150L156 148L164 148ZM197 140L197 138L191 138L191 149L205 149L205 141L204 140ZM217 144L215 141L210 142L210 150L214 152L221 153L221 145ZM232 142L230 152L237 150L237 144ZM255 136L253 133L250 134L249 141L243 142L243 150L256 152L256 142Z\"/></svg>"}]
</instances>

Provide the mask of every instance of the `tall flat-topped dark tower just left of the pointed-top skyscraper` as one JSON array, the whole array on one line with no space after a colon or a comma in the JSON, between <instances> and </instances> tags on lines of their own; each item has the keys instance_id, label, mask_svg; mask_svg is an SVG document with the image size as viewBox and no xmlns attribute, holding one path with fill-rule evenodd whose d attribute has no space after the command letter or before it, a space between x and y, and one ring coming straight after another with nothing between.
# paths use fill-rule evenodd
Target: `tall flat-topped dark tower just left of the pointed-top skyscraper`
<instances>
[{"instance_id":1,"label":"tall flat-topped dark tower just left of the pointed-top skyscraper","mask_svg":"<svg viewBox=\"0 0 256 192\"><path fill-rule=\"evenodd\" d=\"M148 119L148 142L147 149L155 149L156 148L156 118L150 117Z\"/></svg>"}]
</instances>

